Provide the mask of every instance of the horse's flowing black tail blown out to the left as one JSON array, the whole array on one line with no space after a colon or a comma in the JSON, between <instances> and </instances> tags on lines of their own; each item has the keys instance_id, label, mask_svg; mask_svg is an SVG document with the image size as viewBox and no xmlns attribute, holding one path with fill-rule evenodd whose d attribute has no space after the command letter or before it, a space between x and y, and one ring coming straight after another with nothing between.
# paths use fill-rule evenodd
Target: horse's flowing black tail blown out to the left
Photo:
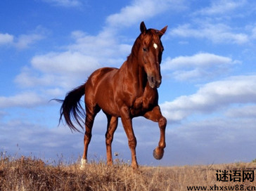
<instances>
[{"instance_id":1,"label":"horse's flowing black tail blown out to the left","mask_svg":"<svg viewBox=\"0 0 256 191\"><path fill-rule=\"evenodd\" d=\"M62 103L60 107L60 120L64 116L64 119L71 130L79 131L75 125L72 123L73 120L77 122L82 129L84 129L84 118L85 112L84 108L80 104L80 99L84 95L84 85L75 88L74 90L67 93L64 100L56 100Z\"/></svg>"}]
</instances>

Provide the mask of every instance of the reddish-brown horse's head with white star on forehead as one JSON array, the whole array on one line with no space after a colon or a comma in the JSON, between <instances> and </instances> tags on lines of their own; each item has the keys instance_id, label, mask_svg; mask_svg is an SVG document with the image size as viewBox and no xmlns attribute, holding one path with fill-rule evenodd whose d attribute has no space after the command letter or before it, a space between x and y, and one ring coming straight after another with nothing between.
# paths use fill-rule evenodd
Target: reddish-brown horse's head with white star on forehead
<instances>
[{"instance_id":1,"label":"reddish-brown horse's head with white star on forehead","mask_svg":"<svg viewBox=\"0 0 256 191\"><path fill-rule=\"evenodd\" d=\"M160 63L162 61L161 37L165 34L167 26L161 30L146 29L144 22L141 22L141 34L138 59L139 64L144 68L148 84L151 88L158 88L161 84L162 76L160 72Z\"/></svg>"}]
</instances>

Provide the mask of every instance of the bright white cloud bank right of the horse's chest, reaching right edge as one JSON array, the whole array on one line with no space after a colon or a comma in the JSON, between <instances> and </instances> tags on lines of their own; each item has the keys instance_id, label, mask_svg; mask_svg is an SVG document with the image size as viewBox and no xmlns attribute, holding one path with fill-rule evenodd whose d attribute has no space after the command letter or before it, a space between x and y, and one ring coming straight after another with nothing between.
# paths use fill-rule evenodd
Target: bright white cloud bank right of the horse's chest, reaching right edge
<instances>
[{"instance_id":1,"label":"bright white cloud bank right of the horse's chest, reaching right edge","mask_svg":"<svg viewBox=\"0 0 256 191\"><path fill-rule=\"evenodd\" d=\"M256 103L256 76L229 77L200 87L192 95L183 95L160 105L171 121L180 121L197 113L209 113L236 103Z\"/></svg>"}]
</instances>

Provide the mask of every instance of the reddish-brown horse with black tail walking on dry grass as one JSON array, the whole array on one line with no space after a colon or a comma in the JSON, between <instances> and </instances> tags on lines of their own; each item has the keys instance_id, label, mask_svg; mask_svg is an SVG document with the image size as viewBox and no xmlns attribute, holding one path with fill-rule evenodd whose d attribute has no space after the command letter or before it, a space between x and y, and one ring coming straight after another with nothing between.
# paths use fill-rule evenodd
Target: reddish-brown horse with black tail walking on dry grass
<instances>
[{"instance_id":1,"label":"reddish-brown horse with black tail walking on dry grass","mask_svg":"<svg viewBox=\"0 0 256 191\"><path fill-rule=\"evenodd\" d=\"M91 129L94 117L103 110L108 118L105 144L107 164L113 164L111 143L117 129L118 117L121 117L124 131L127 134L129 148L132 152L132 167L138 168L136 161L136 137L132 129L132 119L143 116L158 122L160 141L153 151L155 159L162 159L165 148L165 126L167 120L162 116L158 105L158 90L161 84L160 62L164 50L160 38L167 29L146 29L144 22L140 25L141 34L132 47L132 53L120 69L103 67L91 74L85 84L70 91L62 104L60 120L64 116L71 130L79 131L72 123L75 119L82 127L85 116L84 154L82 167L87 162L87 150L91 140ZM84 96L85 110L79 100ZM82 127L83 129L83 127Z\"/></svg>"}]
</instances>

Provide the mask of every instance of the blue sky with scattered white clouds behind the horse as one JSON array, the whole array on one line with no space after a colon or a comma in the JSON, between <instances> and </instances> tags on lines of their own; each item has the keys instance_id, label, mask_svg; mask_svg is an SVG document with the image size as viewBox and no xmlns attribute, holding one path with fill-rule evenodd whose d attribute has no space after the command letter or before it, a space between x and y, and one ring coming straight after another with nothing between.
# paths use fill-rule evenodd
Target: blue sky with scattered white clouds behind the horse
<instances>
[{"instance_id":1,"label":"blue sky with scattered white clouds behind the horse","mask_svg":"<svg viewBox=\"0 0 256 191\"><path fill-rule=\"evenodd\" d=\"M162 29L167 118L162 160L158 124L134 119L142 165L250 162L256 158L256 3L217 1L2 0L0 152L56 159L82 155L83 134L58 126L58 103L99 67L120 67L141 21ZM106 119L96 117L89 159L105 159ZM121 122L113 152L128 161ZM58 158L58 157L57 157Z\"/></svg>"}]
</instances>

